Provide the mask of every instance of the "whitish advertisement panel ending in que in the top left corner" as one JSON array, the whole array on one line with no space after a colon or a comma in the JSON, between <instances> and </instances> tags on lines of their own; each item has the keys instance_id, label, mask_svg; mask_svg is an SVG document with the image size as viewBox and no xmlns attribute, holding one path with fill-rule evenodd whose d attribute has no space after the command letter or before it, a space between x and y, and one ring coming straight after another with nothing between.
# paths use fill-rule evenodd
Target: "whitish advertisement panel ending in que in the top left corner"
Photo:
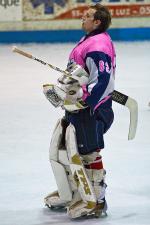
<instances>
[{"instance_id":1,"label":"whitish advertisement panel ending in que in the top left corner","mask_svg":"<svg viewBox=\"0 0 150 225\"><path fill-rule=\"evenodd\" d=\"M0 0L0 22L21 20L22 0Z\"/></svg>"}]
</instances>

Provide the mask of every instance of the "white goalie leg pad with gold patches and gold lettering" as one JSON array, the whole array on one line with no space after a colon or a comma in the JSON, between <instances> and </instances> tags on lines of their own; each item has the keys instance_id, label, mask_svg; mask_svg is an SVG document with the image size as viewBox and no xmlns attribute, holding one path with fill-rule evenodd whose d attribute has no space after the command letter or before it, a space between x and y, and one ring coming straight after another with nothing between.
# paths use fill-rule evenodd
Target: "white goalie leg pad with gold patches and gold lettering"
<instances>
[{"instance_id":1,"label":"white goalie leg pad with gold patches and gold lettering","mask_svg":"<svg viewBox=\"0 0 150 225\"><path fill-rule=\"evenodd\" d=\"M70 169L78 186L80 194L77 201L72 201L67 209L71 218L88 215L96 208L96 196L88 179L82 160L78 153L75 128L69 125L66 130L66 147L70 162Z\"/></svg>"}]
</instances>

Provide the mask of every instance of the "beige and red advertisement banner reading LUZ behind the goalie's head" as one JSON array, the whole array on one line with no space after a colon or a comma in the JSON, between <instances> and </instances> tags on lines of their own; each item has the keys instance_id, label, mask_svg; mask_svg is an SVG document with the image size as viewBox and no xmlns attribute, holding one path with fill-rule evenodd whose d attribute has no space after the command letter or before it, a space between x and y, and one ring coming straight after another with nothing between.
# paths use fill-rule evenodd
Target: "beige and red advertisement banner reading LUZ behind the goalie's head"
<instances>
[{"instance_id":1,"label":"beige and red advertisement banner reading LUZ behind the goalie's head","mask_svg":"<svg viewBox=\"0 0 150 225\"><path fill-rule=\"evenodd\" d=\"M113 18L150 17L150 0L23 0L23 20L79 19L97 2L108 6Z\"/></svg>"}]
</instances>

